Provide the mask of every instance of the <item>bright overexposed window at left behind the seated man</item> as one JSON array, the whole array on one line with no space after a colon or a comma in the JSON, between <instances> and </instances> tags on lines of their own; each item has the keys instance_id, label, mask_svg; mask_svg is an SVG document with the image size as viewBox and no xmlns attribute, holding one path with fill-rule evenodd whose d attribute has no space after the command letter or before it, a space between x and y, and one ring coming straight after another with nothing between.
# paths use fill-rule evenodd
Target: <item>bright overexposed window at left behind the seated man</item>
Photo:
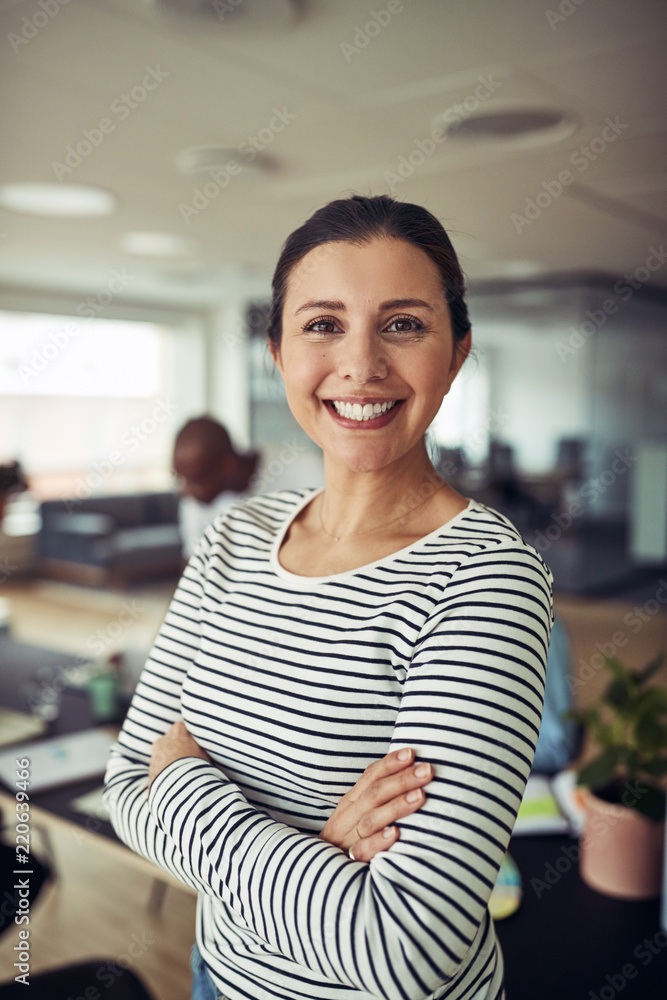
<instances>
[{"instance_id":1,"label":"bright overexposed window at left behind the seated man","mask_svg":"<svg viewBox=\"0 0 667 1000\"><path fill-rule=\"evenodd\" d=\"M197 333L0 312L0 461L43 499L171 489L175 433L202 403Z\"/></svg>"}]
</instances>

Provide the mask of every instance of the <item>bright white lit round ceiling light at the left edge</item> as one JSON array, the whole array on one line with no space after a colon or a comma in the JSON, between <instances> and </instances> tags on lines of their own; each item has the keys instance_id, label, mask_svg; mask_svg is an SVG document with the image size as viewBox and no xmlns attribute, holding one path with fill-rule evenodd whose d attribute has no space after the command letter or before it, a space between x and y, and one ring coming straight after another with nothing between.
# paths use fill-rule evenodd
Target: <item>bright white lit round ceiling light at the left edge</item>
<instances>
[{"instance_id":1,"label":"bright white lit round ceiling light at the left edge","mask_svg":"<svg viewBox=\"0 0 667 1000\"><path fill-rule=\"evenodd\" d=\"M92 218L110 215L116 199L102 188L85 184L5 184L0 188L0 205L27 215Z\"/></svg>"}]
</instances>

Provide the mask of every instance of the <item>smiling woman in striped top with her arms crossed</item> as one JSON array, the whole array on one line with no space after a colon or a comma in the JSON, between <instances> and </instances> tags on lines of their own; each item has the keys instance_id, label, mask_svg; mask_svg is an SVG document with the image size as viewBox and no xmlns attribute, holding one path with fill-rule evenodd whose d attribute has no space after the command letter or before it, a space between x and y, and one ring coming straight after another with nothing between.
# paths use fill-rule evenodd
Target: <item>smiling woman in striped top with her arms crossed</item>
<instances>
[{"instance_id":1,"label":"smiling woman in striped top with her arms crossed","mask_svg":"<svg viewBox=\"0 0 667 1000\"><path fill-rule=\"evenodd\" d=\"M193 997L502 997L487 901L551 586L428 459L470 347L440 223L384 196L316 212L269 341L326 488L207 529L112 753L115 828L200 892Z\"/></svg>"}]
</instances>

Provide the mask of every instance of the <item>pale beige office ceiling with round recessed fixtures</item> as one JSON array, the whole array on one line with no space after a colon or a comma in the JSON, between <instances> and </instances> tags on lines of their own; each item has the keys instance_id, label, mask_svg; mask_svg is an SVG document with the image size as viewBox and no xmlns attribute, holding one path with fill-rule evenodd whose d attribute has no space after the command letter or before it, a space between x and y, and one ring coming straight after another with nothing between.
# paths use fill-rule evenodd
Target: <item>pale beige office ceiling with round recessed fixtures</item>
<instances>
[{"instance_id":1,"label":"pale beige office ceiling with round recessed fixtures","mask_svg":"<svg viewBox=\"0 0 667 1000\"><path fill-rule=\"evenodd\" d=\"M322 203L383 192L445 222L473 285L584 270L667 286L661 0L163 6L0 0L0 184L117 198L92 219L0 209L5 287L83 298L116 271L118 299L213 305L265 288ZM467 134L481 115L535 109L562 126ZM443 120L458 127L435 142ZM229 150L217 180L178 166L202 146ZM185 238L189 255L130 254L133 231Z\"/></svg>"}]
</instances>

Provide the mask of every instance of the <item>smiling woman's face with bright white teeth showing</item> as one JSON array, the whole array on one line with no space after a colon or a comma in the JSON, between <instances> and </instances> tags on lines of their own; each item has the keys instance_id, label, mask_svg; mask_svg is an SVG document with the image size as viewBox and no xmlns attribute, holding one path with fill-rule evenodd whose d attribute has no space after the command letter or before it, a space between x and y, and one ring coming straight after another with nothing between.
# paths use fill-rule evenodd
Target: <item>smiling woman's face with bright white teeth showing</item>
<instances>
[{"instance_id":1,"label":"smiling woman's face with bright white teeth showing","mask_svg":"<svg viewBox=\"0 0 667 1000\"><path fill-rule=\"evenodd\" d=\"M454 350L435 264L382 238L302 258L274 360L294 417L327 460L370 472L423 450L468 346Z\"/></svg>"}]
</instances>

